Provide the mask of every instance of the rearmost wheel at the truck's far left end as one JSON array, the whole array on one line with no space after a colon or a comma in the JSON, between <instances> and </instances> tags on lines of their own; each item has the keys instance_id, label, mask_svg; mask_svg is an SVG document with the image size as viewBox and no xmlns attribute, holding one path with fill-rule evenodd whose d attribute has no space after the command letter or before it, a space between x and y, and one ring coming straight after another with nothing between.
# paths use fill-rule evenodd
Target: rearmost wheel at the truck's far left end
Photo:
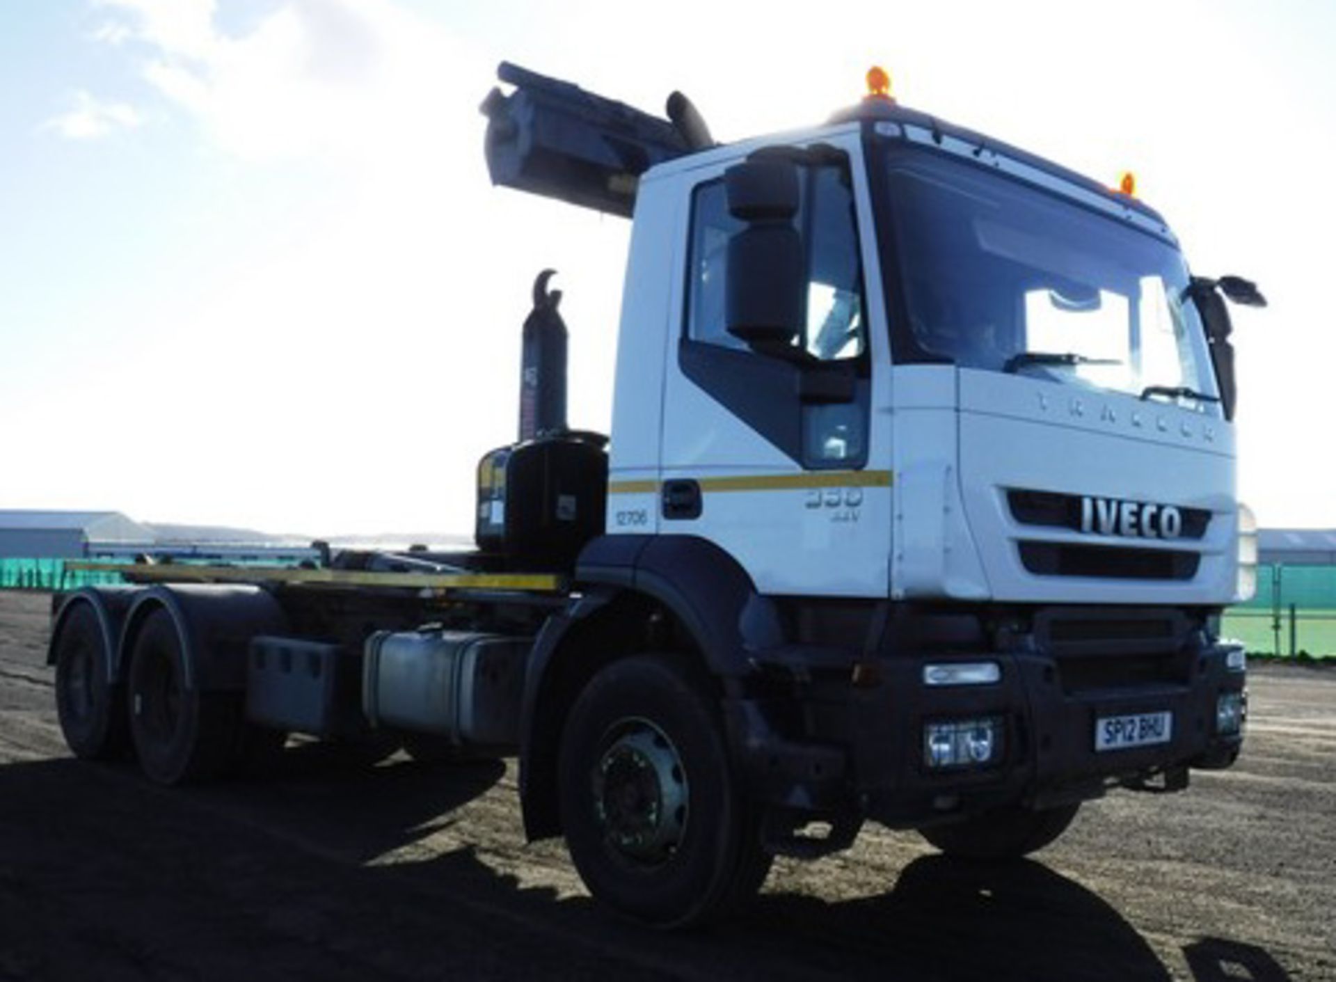
<instances>
[{"instance_id":1,"label":"rearmost wheel at the truck's far left end","mask_svg":"<svg viewBox=\"0 0 1336 982\"><path fill-rule=\"evenodd\" d=\"M65 744L83 760L122 756L130 748L126 693L108 679L110 652L87 603L65 616L55 648L56 713Z\"/></svg>"}]
</instances>

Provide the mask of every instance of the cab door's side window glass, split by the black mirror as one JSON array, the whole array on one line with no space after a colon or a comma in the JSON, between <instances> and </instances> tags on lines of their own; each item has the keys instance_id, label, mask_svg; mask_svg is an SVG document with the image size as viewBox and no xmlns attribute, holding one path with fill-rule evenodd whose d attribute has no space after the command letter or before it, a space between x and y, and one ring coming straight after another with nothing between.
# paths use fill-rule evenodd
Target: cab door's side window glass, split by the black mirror
<instances>
[{"instance_id":1,"label":"cab door's side window glass, split by the black mirror","mask_svg":"<svg viewBox=\"0 0 1336 982\"><path fill-rule=\"evenodd\" d=\"M867 346L867 327L852 191L838 167L808 167L803 174L794 220L807 249L807 318L796 343L820 361L858 358ZM728 240L743 227L728 214L721 179L696 188L687 283L687 337L692 341L748 350L724 323Z\"/></svg>"}]
</instances>

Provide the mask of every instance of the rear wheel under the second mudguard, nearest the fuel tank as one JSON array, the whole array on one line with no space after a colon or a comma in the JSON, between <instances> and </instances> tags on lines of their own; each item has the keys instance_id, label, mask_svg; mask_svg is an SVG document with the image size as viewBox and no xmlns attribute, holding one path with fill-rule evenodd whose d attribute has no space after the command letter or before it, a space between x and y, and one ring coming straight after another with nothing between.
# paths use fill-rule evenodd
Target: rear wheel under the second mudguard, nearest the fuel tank
<instances>
[{"instance_id":1,"label":"rear wheel under the second mudguard, nearest the fuel tank","mask_svg":"<svg viewBox=\"0 0 1336 982\"><path fill-rule=\"evenodd\" d=\"M186 687L186 656L166 611L144 621L130 663L130 733L139 767L158 784L204 780L235 756L242 700Z\"/></svg>"}]
</instances>

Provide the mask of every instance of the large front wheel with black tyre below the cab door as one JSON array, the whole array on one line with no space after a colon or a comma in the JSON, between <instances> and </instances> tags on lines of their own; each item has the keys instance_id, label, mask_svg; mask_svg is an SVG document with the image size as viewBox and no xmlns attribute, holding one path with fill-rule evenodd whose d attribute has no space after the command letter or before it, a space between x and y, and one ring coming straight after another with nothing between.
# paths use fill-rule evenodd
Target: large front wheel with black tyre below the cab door
<instances>
[{"instance_id":1,"label":"large front wheel with black tyre below the cab door","mask_svg":"<svg viewBox=\"0 0 1336 982\"><path fill-rule=\"evenodd\" d=\"M589 892L655 927L716 918L770 871L715 699L681 657L599 672L561 739L561 820Z\"/></svg>"}]
</instances>

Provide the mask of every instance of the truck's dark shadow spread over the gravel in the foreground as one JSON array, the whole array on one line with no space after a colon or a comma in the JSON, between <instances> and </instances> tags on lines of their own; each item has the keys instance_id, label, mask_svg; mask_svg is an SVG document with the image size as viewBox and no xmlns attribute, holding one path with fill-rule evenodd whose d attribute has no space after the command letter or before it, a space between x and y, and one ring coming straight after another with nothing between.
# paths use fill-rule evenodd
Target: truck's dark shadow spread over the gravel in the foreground
<instances>
[{"instance_id":1,"label":"truck's dark shadow spread over the gravel in the foreground","mask_svg":"<svg viewBox=\"0 0 1336 982\"><path fill-rule=\"evenodd\" d=\"M1038 862L921 856L882 894L772 886L732 922L648 931L585 896L558 847L520 847L509 795L422 842L486 798L498 762L289 755L258 782L178 791L128 767L0 767L0 978L1170 978L1117 910ZM480 844L445 844L461 840ZM1201 982L1285 978L1228 941L1185 957Z\"/></svg>"}]
</instances>

